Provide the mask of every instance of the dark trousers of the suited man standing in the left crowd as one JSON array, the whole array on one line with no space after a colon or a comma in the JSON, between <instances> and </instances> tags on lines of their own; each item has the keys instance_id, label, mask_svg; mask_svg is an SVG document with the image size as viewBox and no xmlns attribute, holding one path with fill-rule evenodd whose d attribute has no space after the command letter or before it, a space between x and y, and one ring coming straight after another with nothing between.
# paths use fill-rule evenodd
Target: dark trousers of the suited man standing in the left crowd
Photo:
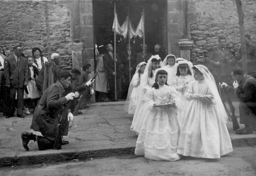
<instances>
[{"instance_id":1,"label":"dark trousers of the suited man standing in the left crowd","mask_svg":"<svg viewBox=\"0 0 256 176\"><path fill-rule=\"evenodd\" d=\"M17 115L23 114L23 88L10 88L10 101L9 101L9 113L15 112L15 95L17 91Z\"/></svg>"}]
</instances>

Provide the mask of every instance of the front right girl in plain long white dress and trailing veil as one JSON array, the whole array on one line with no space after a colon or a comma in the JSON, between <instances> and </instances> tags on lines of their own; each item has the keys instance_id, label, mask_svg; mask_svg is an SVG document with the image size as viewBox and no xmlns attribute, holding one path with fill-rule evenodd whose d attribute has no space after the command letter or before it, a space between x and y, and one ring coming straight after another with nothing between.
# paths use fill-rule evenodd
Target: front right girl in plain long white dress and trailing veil
<instances>
[{"instance_id":1,"label":"front right girl in plain long white dress and trailing veil","mask_svg":"<svg viewBox=\"0 0 256 176\"><path fill-rule=\"evenodd\" d=\"M227 114L207 67L193 67L194 78L184 97L189 101L178 141L177 154L220 158L233 151L226 127Z\"/></svg>"}]
</instances>

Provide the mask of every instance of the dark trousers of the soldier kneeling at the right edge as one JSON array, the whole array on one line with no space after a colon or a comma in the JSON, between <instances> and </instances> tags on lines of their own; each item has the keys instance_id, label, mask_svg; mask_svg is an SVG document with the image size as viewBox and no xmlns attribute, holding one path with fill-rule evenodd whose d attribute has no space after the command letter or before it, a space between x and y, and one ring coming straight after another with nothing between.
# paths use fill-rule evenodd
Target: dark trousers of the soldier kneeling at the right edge
<instances>
[{"instance_id":1,"label":"dark trousers of the soldier kneeling at the right edge","mask_svg":"<svg viewBox=\"0 0 256 176\"><path fill-rule=\"evenodd\" d=\"M239 104L240 124L256 127L256 103L241 102Z\"/></svg>"}]
</instances>

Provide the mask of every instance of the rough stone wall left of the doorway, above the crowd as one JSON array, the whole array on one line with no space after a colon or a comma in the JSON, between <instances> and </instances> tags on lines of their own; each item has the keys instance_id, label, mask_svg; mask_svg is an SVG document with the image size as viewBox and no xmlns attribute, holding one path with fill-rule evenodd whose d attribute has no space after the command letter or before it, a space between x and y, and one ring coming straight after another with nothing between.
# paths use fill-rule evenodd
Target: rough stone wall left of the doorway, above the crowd
<instances>
[{"instance_id":1,"label":"rough stone wall left of the doorway, above the crowd","mask_svg":"<svg viewBox=\"0 0 256 176\"><path fill-rule=\"evenodd\" d=\"M6 51L20 43L26 56L38 47L48 57L44 9L44 1L0 1L0 46ZM59 53L61 67L71 69L70 4L48 1L48 10L51 53Z\"/></svg>"}]
</instances>

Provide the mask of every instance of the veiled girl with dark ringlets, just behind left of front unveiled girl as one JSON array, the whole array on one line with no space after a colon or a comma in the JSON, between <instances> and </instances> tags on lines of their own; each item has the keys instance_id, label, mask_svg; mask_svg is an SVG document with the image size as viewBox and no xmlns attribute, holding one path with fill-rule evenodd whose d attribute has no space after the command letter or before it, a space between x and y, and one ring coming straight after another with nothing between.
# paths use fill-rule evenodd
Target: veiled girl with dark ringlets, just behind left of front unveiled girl
<instances>
[{"instance_id":1,"label":"veiled girl with dark ringlets, just behind left of front unveiled girl","mask_svg":"<svg viewBox=\"0 0 256 176\"><path fill-rule=\"evenodd\" d=\"M151 86L155 83L155 70L159 67L163 67L161 58L158 55L152 55L151 58L149 58L145 71L140 79L141 90L139 92L139 100L134 112L133 122L130 127L130 129L132 131L136 131L136 133L140 132L140 127L143 122L143 111L145 110L144 95L146 94L146 91L151 89Z\"/></svg>"}]
</instances>

